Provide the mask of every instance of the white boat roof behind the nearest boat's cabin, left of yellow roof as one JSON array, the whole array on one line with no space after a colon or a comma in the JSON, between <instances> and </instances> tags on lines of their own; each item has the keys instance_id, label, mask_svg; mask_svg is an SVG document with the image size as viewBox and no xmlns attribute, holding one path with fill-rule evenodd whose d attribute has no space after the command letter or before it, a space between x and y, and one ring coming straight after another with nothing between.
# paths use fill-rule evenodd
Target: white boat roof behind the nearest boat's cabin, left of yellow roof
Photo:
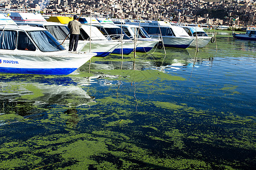
<instances>
[{"instance_id":1,"label":"white boat roof behind the nearest boat's cabin, left of yellow roof","mask_svg":"<svg viewBox=\"0 0 256 170\"><path fill-rule=\"evenodd\" d=\"M19 22L47 22L41 14L29 12L11 12L10 18Z\"/></svg>"}]
</instances>

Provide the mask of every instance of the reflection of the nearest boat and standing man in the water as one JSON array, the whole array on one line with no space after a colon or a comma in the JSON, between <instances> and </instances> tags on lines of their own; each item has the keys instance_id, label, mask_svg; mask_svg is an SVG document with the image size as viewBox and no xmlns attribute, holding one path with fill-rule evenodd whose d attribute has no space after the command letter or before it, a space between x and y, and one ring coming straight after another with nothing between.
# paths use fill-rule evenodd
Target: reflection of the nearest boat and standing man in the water
<instances>
[{"instance_id":1,"label":"reflection of the nearest boat and standing man in the water","mask_svg":"<svg viewBox=\"0 0 256 170\"><path fill-rule=\"evenodd\" d=\"M90 96L81 87L70 84L72 83L70 78L38 78L37 82L33 82L30 77L28 77L30 80L27 81L21 77L21 75L11 75L8 82L5 76L2 76L3 79L0 82L0 125L43 117L52 108L52 105L59 105L64 109L68 108L64 112L67 114L67 125L74 127L79 120L76 115L76 107L95 102L94 96Z\"/></svg>"}]
</instances>

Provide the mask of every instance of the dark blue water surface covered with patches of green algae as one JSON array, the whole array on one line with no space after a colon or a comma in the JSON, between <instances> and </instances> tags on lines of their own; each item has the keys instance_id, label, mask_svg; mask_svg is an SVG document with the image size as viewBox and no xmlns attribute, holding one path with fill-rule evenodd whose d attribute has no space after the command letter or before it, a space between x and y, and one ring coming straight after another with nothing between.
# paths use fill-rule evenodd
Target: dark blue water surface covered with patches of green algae
<instances>
[{"instance_id":1,"label":"dark blue water surface covered with patches of green algae","mask_svg":"<svg viewBox=\"0 0 256 170\"><path fill-rule=\"evenodd\" d=\"M0 169L255 169L255 50L218 37L1 74Z\"/></svg>"}]
</instances>

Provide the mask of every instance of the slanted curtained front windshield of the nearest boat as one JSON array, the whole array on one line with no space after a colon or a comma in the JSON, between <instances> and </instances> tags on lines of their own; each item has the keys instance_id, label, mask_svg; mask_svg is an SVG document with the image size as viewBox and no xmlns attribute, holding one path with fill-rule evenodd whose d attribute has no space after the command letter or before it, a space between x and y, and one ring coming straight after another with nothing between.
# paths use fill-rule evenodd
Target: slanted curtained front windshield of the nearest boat
<instances>
[{"instance_id":1,"label":"slanted curtained front windshield of the nearest boat","mask_svg":"<svg viewBox=\"0 0 256 170\"><path fill-rule=\"evenodd\" d=\"M48 31L28 31L27 33L42 52L56 52L65 49Z\"/></svg>"}]
</instances>

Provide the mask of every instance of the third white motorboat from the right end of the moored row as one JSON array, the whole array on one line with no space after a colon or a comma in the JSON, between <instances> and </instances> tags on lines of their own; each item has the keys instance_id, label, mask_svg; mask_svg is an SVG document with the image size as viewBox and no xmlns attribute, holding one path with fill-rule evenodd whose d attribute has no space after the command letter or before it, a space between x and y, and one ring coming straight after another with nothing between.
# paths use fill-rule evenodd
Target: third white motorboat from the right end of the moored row
<instances>
[{"instance_id":1,"label":"third white motorboat from the right end of the moored row","mask_svg":"<svg viewBox=\"0 0 256 170\"><path fill-rule=\"evenodd\" d=\"M138 25L129 25L129 24L115 24L118 27L122 28L123 32L126 33L131 39L139 42L136 47L136 52L147 53L149 52L156 44L158 44L161 39L152 39L150 35L145 31L143 27ZM135 35L136 32L136 35Z\"/></svg>"}]
</instances>

